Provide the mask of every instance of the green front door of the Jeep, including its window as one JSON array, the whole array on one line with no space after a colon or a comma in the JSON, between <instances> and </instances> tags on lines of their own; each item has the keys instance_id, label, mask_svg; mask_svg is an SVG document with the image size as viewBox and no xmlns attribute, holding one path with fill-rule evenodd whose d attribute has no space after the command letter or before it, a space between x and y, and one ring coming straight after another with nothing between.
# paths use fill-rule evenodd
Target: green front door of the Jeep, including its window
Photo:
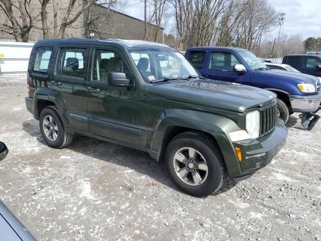
<instances>
[{"instance_id":1,"label":"green front door of the Jeep, including its window","mask_svg":"<svg viewBox=\"0 0 321 241\"><path fill-rule=\"evenodd\" d=\"M92 134L146 147L147 96L136 84L123 56L114 48L92 50L92 74L87 87L89 131ZM115 87L108 72L126 73L133 87Z\"/></svg>"}]
</instances>

